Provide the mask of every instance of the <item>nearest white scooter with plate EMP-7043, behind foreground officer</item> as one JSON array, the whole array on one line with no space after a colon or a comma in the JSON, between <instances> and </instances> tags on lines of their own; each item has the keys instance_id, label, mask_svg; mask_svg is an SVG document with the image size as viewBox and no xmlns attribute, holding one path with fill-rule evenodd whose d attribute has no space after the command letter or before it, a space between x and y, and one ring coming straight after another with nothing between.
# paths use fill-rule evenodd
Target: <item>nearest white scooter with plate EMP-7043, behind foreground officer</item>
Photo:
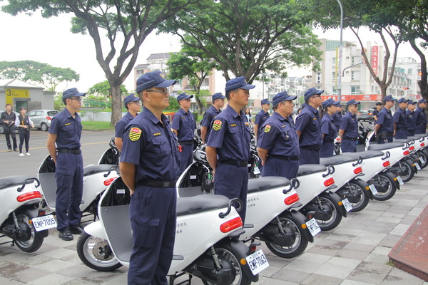
<instances>
[{"instance_id":1,"label":"nearest white scooter with plate EMP-7043, behind foreground officer","mask_svg":"<svg viewBox=\"0 0 428 285\"><path fill-rule=\"evenodd\" d=\"M78 239L77 252L84 264L99 271L128 266L132 235L128 209L130 192L118 177L103 193L98 207L100 220L88 224ZM238 240L243 222L232 206L239 199L198 195L177 199L177 227L170 284L190 274L204 284L250 284L268 266L257 244ZM240 206L242 207L242 206ZM239 208L238 208L239 210Z\"/></svg>"}]
</instances>

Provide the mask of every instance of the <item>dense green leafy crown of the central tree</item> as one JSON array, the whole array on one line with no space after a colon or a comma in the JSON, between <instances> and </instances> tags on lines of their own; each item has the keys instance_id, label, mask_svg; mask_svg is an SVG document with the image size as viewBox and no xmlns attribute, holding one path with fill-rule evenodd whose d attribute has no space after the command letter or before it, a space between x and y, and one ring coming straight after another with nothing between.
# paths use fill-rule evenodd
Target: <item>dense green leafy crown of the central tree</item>
<instances>
[{"instance_id":1,"label":"dense green leafy crown of the central tree","mask_svg":"<svg viewBox=\"0 0 428 285\"><path fill-rule=\"evenodd\" d=\"M310 0L201 0L162 24L185 46L198 49L249 83L262 72L309 65L320 56L319 41L308 24Z\"/></svg>"}]
</instances>

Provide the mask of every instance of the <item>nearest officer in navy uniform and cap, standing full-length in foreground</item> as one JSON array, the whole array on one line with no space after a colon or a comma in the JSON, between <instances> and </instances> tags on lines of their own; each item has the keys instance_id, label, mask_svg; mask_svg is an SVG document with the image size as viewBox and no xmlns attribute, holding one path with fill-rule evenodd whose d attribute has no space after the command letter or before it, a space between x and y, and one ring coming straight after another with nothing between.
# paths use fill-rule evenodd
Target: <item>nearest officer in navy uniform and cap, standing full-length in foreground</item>
<instances>
[{"instance_id":1,"label":"nearest officer in navy uniform and cap, standing full-length in foreground","mask_svg":"<svg viewBox=\"0 0 428 285\"><path fill-rule=\"evenodd\" d=\"M167 88L174 83L160 71L140 76L136 92L144 108L123 133L119 167L132 195L128 284L166 285L173 259L180 156L177 138L162 111L169 105Z\"/></svg>"}]
</instances>

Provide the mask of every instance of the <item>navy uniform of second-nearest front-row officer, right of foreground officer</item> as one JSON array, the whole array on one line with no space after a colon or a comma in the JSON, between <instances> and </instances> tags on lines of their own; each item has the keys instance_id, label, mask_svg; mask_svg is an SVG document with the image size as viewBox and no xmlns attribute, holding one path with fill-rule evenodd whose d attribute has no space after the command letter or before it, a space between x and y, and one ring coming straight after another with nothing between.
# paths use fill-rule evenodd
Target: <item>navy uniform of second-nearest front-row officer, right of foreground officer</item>
<instances>
[{"instance_id":1,"label":"navy uniform of second-nearest front-row officer, right of foreground officer","mask_svg":"<svg viewBox=\"0 0 428 285\"><path fill-rule=\"evenodd\" d=\"M250 125L245 114L236 113L228 105L213 121L213 130L207 145L217 148L218 165L215 170L215 194L240 198L245 220L248 192L248 160L250 160Z\"/></svg>"}]
</instances>

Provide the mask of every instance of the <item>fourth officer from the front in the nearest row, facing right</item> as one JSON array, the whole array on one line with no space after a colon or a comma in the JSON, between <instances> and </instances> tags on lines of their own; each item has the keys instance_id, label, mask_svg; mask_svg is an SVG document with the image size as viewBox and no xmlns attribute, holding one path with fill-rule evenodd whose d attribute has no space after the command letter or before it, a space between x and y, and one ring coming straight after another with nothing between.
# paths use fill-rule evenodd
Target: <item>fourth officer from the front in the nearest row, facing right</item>
<instances>
[{"instance_id":1,"label":"fourth officer from the front in the nearest row, facing right","mask_svg":"<svg viewBox=\"0 0 428 285\"><path fill-rule=\"evenodd\" d=\"M310 88L305 93L306 107L296 118L296 130L300 145L300 165L320 164L322 146L320 112L321 94L324 90Z\"/></svg>"}]
</instances>

